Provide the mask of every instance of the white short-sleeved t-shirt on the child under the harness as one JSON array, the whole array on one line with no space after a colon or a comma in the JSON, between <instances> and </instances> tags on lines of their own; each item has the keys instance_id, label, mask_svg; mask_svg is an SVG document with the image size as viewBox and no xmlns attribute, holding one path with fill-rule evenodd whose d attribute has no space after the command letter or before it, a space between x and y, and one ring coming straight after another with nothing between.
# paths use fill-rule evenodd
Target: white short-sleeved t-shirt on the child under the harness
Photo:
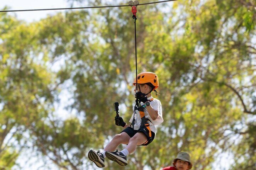
<instances>
[{"instance_id":1,"label":"white short-sleeved t-shirt on the child under the harness","mask_svg":"<svg viewBox=\"0 0 256 170\"><path fill-rule=\"evenodd\" d=\"M153 98L152 96L148 97L148 100L150 100L152 98ZM141 105L143 105L143 104L144 103L141 102ZM149 119L151 121L151 122L148 121L151 131L156 134L155 125L160 125L164 121L163 116L162 116L162 104L161 104L160 100L154 98L154 100L150 101L150 105L152 106L152 108L154 110L158 111L158 115L159 115L158 118L156 120L152 120L152 118L150 117L149 112L146 108L144 108L144 114L145 114L146 119ZM133 113L133 115L134 115L134 113ZM132 117L129 121L130 123L133 122L133 115L132 115ZM140 118L140 115L139 115L139 110L136 110L136 114L134 116L134 119L135 119L134 130L139 130L139 127L141 125L141 118Z\"/></svg>"}]
</instances>

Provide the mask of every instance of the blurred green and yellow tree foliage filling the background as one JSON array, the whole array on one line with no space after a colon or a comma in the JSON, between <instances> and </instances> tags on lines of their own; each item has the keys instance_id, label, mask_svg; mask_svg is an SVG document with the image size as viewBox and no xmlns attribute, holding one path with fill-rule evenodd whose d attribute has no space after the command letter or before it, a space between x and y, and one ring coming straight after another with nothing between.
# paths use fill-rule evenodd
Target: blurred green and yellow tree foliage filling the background
<instances>
[{"instance_id":1,"label":"blurred green and yellow tree foliage filling the background","mask_svg":"<svg viewBox=\"0 0 256 170\"><path fill-rule=\"evenodd\" d=\"M158 74L164 122L152 144L129 155L129 165L106 160L104 169L162 169L180 151L197 170L256 169L255 4L138 6L138 72ZM32 23L0 13L1 169L22 169L17 160L32 158L44 162L38 169L97 168L88 151L103 149L122 130L113 103L126 122L133 113L130 10L69 10Z\"/></svg>"}]
</instances>

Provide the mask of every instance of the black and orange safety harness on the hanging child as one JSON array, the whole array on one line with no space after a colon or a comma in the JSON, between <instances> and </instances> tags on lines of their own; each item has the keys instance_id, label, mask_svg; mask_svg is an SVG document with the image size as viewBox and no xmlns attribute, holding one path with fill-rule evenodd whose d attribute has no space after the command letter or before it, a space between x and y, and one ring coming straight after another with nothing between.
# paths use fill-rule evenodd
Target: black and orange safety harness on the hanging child
<instances>
[{"instance_id":1,"label":"black and orange safety harness on the hanging child","mask_svg":"<svg viewBox=\"0 0 256 170\"><path fill-rule=\"evenodd\" d=\"M151 102L152 100L154 100L154 98L150 99L149 102ZM139 110L139 115L141 118L140 127L143 127L143 126L146 127L149 130L149 138L152 138L151 130L150 130L149 123L148 123L148 121L150 121L150 120L145 117L144 109L145 108L143 107L143 105L141 106L141 104L139 104L139 102L136 101L136 105L134 106L134 110L133 110L133 121L132 121L131 125L132 125L132 128L134 129L135 114L137 113L136 110ZM148 140L144 144L147 144L147 143L148 143Z\"/></svg>"}]
</instances>

